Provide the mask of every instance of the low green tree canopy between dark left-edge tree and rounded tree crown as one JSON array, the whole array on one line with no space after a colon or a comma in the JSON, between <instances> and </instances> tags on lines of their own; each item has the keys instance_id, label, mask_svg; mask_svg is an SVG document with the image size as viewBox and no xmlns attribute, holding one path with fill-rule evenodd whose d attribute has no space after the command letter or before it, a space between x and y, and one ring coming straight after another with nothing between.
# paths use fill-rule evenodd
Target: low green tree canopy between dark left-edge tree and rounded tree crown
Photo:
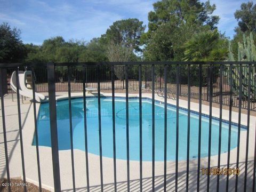
<instances>
[{"instance_id":1,"label":"low green tree canopy between dark left-edge tree and rounded tree crown","mask_svg":"<svg viewBox=\"0 0 256 192\"><path fill-rule=\"evenodd\" d=\"M96 62L106 61L105 48L99 38L90 43L74 41L65 42L63 37L46 39L42 46L26 45L28 57L26 62Z\"/></svg>"}]
</instances>

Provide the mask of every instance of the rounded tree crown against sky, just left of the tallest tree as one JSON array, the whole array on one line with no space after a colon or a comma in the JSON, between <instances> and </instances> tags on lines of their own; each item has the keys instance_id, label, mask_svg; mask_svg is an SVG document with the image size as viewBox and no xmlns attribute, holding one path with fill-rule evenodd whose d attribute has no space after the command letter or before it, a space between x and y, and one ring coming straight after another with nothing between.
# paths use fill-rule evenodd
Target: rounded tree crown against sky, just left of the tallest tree
<instances>
[{"instance_id":1,"label":"rounded tree crown against sky, just left of the tallest tree","mask_svg":"<svg viewBox=\"0 0 256 192\"><path fill-rule=\"evenodd\" d=\"M107 29L106 34L102 38L106 39L107 43L113 41L116 44L122 44L126 47L133 47L135 51L140 49L140 37L144 33L146 26L138 19L125 19L115 21L113 25Z\"/></svg>"}]
</instances>

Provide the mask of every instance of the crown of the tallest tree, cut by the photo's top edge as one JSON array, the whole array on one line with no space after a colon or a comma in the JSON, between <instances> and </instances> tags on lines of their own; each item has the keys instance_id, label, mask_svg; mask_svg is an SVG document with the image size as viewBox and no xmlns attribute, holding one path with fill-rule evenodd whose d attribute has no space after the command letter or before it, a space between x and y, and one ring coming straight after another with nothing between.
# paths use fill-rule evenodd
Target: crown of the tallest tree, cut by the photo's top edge
<instances>
[{"instance_id":1,"label":"crown of the tallest tree, cut by the photo's top edge","mask_svg":"<svg viewBox=\"0 0 256 192\"><path fill-rule=\"evenodd\" d=\"M179 25L181 22L199 23L215 28L219 17L212 15L216 9L215 4L209 1L201 3L198 0L162 0L153 4L154 11L148 13L149 33L155 31L163 23L172 22Z\"/></svg>"}]
</instances>

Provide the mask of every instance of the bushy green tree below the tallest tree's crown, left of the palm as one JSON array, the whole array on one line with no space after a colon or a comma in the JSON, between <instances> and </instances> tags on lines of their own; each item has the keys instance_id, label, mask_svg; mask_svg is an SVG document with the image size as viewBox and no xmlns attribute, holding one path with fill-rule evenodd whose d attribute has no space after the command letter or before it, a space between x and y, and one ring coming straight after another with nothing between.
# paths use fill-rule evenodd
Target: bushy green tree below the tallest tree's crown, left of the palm
<instances>
[{"instance_id":1,"label":"bushy green tree below the tallest tree's crown, left of the palm","mask_svg":"<svg viewBox=\"0 0 256 192\"><path fill-rule=\"evenodd\" d=\"M197 23L181 23L176 26L168 22L159 26L152 32L148 40L143 56L149 61L180 61L184 57L183 44L199 31L210 30L209 26L201 26Z\"/></svg>"}]
</instances>

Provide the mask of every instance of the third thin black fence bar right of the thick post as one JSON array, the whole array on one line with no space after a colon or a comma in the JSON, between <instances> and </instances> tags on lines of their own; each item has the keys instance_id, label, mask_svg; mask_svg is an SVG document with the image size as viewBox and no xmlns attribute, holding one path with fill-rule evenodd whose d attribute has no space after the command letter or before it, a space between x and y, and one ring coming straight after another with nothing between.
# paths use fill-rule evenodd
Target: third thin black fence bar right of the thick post
<instances>
[{"instance_id":1,"label":"third thin black fence bar right of the thick post","mask_svg":"<svg viewBox=\"0 0 256 192\"><path fill-rule=\"evenodd\" d=\"M102 140L101 140L101 106L100 106L100 65L97 66L98 79L98 118L99 118L99 147L100 147L100 185L103 192L103 171L102 171Z\"/></svg>"}]
</instances>

